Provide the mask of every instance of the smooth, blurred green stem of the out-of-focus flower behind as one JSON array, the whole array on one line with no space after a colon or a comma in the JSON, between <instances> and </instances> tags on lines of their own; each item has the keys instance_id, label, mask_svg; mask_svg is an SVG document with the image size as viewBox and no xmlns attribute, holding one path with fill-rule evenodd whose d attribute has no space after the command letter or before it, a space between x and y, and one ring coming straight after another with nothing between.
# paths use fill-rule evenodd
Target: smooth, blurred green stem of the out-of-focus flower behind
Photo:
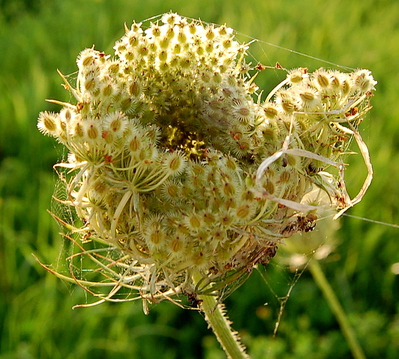
<instances>
[{"instance_id":1,"label":"smooth, blurred green stem of the out-of-focus flower behind","mask_svg":"<svg viewBox=\"0 0 399 359\"><path fill-rule=\"evenodd\" d=\"M319 262L317 260L311 260L308 268L320 290L323 292L323 295L327 300L332 312L337 318L338 323L341 326L341 331L349 345L353 357L355 359L366 359L366 356L364 355L364 352L356 338L356 334L349 323L348 317L339 303L333 289L328 283L328 280L325 277Z\"/></svg>"}]
</instances>

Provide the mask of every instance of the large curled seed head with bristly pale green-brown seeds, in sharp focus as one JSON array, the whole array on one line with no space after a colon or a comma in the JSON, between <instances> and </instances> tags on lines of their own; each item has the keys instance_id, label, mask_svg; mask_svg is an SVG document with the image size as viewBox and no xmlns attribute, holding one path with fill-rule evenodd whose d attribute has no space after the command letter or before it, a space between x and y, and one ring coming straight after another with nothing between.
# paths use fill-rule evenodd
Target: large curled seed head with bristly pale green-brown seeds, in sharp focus
<instances>
[{"instance_id":1,"label":"large curled seed head with bristly pale green-brown seeds, in sharp focus","mask_svg":"<svg viewBox=\"0 0 399 359\"><path fill-rule=\"evenodd\" d=\"M173 13L134 23L113 57L83 50L76 83L63 76L76 103L51 100L61 111L40 114L39 130L69 151L56 168L59 201L81 223L72 232L118 249L79 245L112 288L101 300L120 288L148 301L223 296L284 238L311 230L318 208L345 210L367 189L357 126L371 73L285 70L262 100L264 66L245 62L247 48L226 26ZM353 199L343 180L351 137L369 170ZM303 201L315 186L329 203Z\"/></svg>"}]
</instances>

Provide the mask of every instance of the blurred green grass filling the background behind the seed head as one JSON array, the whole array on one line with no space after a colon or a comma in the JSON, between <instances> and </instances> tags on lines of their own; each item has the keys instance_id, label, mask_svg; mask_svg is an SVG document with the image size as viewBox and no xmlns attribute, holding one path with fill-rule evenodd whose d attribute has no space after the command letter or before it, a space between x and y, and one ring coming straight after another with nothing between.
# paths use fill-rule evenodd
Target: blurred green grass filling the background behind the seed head
<instances>
[{"instance_id":1,"label":"blurred green grass filling the background behind the seed head","mask_svg":"<svg viewBox=\"0 0 399 359\"><path fill-rule=\"evenodd\" d=\"M399 2L395 0L59 0L0 2L0 358L224 358L203 318L162 302L145 316L141 303L72 306L90 301L76 286L45 272L62 261L59 228L46 212L62 148L36 129L38 113L67 101L56 69L76 70L93 44L112 51L123 23L173 10L352 68L378 80L374 108L362 125L375 176L351 215L399 223ZM255 44L266 65L327 66L309 57ZM260 77L271 89L276 71ZM354 194L365 177L360 156L348 159ZM320 231L321 233L321 231ZM316 232L317 234L317 232ZM321 235L321 234L320 234ZM399 229L343 217L340 245L323 269L368 358L399 357ZM277 257L279 254L277 255ZM295 273L276 258L226 301L252 358L351 358L335 317L304 272L272 338L281 300ZM264 304L268 303L267 306Z\"/></svg>"}]
</instances>

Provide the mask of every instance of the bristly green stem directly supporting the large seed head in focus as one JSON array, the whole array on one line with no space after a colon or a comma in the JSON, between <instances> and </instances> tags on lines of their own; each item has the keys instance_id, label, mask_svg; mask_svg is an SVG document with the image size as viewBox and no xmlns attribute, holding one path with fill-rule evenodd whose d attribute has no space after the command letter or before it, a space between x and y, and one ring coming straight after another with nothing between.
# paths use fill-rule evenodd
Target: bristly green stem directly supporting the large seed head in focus
<instances>
[{"instance_id":1,"label":"bristly green stem directly supporting the large seed head in focus","mask_svg":"<svg viewBox=\"0 0 399 359\"><path fill-rule=\"evenodd\" d=\"M194 274L194 279L195 282L198 282L201 275L199 273ZM248 359L249 356L245 353L245 348L240 343L237 332L230 326L224 306L211 295L198 295L198 299L201 301L200 307L205 314L205 319L227 357L230 359Z\"/></svg>"}]
</instances>

